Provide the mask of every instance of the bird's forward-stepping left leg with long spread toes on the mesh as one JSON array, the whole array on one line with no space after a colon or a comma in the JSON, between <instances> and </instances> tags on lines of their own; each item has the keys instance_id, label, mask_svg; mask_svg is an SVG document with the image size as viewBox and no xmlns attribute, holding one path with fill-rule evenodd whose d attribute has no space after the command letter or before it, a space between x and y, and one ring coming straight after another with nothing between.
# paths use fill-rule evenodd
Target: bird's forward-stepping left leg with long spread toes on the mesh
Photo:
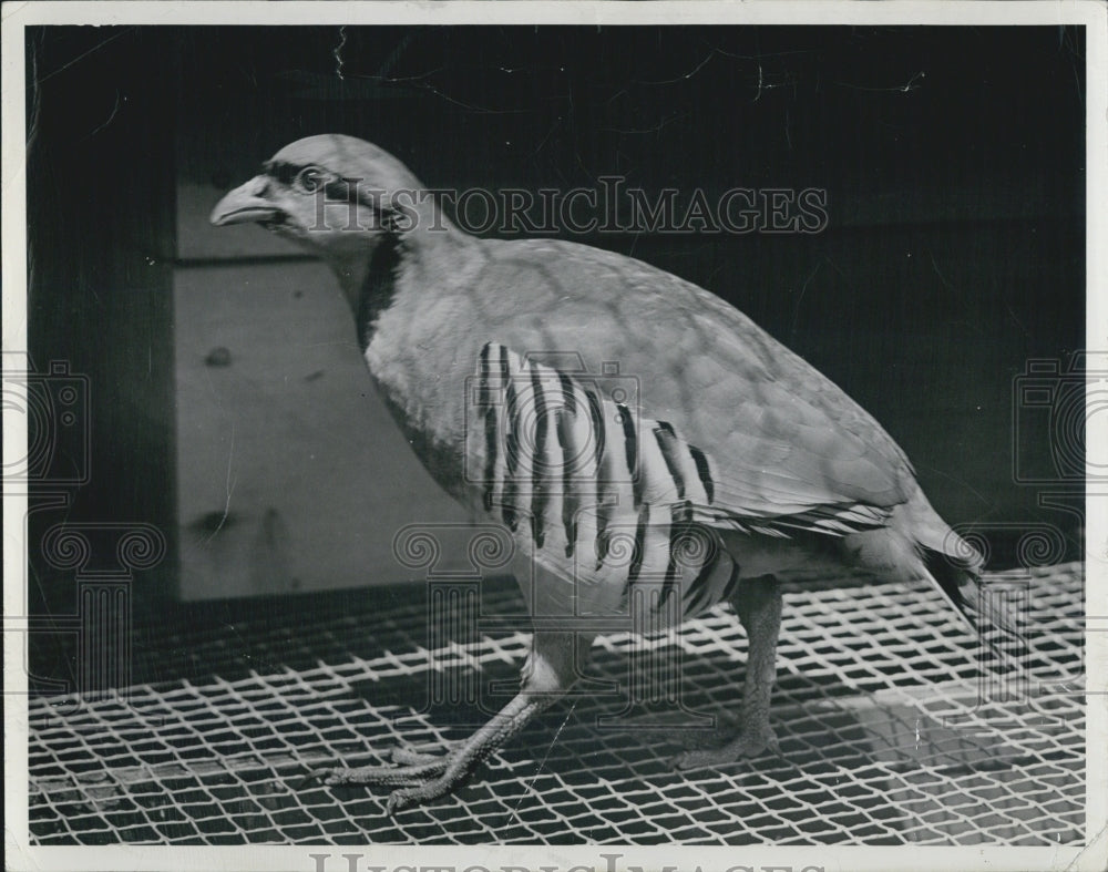
<instances>
[{"instance_id":1,"label":"bird's forward-stepping left leg with long spread toes on the mesh","mask_svg":"<svg viewBox=\"0 0 1108 872\"><path fill-rule=\"evenodd\" d=\"M389 784L400 787L388 801L390 813L449 793L481 761L515 736L538 712L550 708L573 686L578 655L587 657L592 636L576 633L535 633L523 667L520 693L469 739L442 757L412 751L393 753L404 766L327 769L312 776L325 784Z\"/></svg>"}]
</instances>

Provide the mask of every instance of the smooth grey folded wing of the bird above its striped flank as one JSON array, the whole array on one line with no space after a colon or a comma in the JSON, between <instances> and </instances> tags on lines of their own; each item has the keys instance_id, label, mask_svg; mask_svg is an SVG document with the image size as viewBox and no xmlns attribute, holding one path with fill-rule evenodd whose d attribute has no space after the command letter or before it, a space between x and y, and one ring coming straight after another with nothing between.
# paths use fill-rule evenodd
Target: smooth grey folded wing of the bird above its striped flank
<instances>
[{"instance_id":1,"label":"smooth grey folded wing of the bird above its striped flank","mask_svg":"<svg viewBox=\"0 0 1108 872\"><path fill-rule=\"evenodd\" d=\"M639 430L668 421L680 445L706 458L712 493L697 491L706 509L850 529L914 491L906 456L865 411L715 295L572 243L505 243L493 254L472 286L489 296L485 338L520 355L579 351L594 380L617 366L614 382L636 394L627 404L646 422ZM644 442L660 456L656 439ZM686 481L701 486L693 468Z\"/></svg>"}]
</instances>

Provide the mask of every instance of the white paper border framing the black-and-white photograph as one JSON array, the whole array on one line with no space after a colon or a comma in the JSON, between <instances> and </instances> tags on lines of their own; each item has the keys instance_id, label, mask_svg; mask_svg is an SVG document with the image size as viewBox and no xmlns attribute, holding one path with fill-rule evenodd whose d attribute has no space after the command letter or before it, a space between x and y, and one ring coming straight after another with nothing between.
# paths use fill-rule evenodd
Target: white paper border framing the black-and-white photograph
<instances>
[{"instance_id":1,"label":"white paper border framing the black-and-white photograph","mask_svg":"<svg viewBox=\"0 0 1108 872\"><path fill-rule=\"evenodd\" d=\"M1084 25L1086 29L1086 330L1087 348L1108 343L1108 8L1086 2L4 2L2 69L2 330L3 349L27 348L27 214L24 28L39 24L934 24ZM1087 444L1108 444L1106 416L1089 420ZM25 454L24 419L3 420L4 463ZM4 614L25 615L25 493L4 483ZM1108 491L1087 479L1086 566L1087 770L1084 847L277 847L235 848L31 845L28 829L28 704L23 634L4 633L4 849L9 869L297 869L314 872L312 854L330 853L326 872L383 866L464 870L542 865L608 872L638 865L700 869L766 866L856 870L1095 870L1108 868ZM616 859L611 859L616 858Z\"/></svg>"}]
</instances>

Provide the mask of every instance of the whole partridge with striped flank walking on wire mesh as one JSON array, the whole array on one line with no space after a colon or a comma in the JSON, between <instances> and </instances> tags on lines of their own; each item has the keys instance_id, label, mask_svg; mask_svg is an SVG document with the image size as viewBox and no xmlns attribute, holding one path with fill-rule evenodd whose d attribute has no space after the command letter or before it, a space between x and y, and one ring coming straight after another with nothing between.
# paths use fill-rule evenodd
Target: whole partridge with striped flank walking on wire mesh
<instances>
[{"instance_id":1,"label":"whole partridge with striped flank walking on wire mesh","mask_svg":"<svg viewBox=\"0 0 1108 872\"><path fill-rule=\"evenodd\" d=\"M781 586L798 573L927 579L984 627L982 555L904 451L709 290L573 240L471 235L397 157L345 134L280 148L211 222L259 224L330 267L388 413L444 491L509 532L542 617L519 693L472 736L320 769L322 783L392 788L390 813L451 793L574 686L595 635L581 615L738 615L739 729L681 769L778 749Z\"/></svg>"}]
</instances>

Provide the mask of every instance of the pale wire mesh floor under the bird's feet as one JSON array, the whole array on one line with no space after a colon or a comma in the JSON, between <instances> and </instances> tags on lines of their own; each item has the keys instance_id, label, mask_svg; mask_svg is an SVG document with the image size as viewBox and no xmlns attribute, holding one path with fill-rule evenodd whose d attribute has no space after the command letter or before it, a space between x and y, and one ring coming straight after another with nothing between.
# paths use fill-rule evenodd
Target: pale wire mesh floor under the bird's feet
<instances>
[{"instance_id":1,"label":"pale wire mesh floor under the bird's feet","mask_svg":"<svg viewBox=\"0 0 1108 872\"><path fill-rule=\"evenodd\" d=\"M181 660L174 680L106 699L30 701L31 835L39 844L1080 842L1083 567L1005 577L1029 591L1016 679L975 658L925 585L792 585L773 698L779 753L716 769L671 763L690 745L719 741L738 715L746 639L719 608L675 636L601 636L588 675L602 684L531 725L453 796L394 818L387 790L297 782L317 766L380 762L398 745L465 736L484 716L465 699L428 705L428 688L451 676L482 693L511 686L529 640L519 622L432 649L414 585L389 594L400 598L383 609L389 597L375 592L360 609L300 611L295 642L260 622L236 625L234 640L177 628L162 660L171 673L173 656ZM485 585L482 596L482 614L521 614L513 587ZM283 650L291 656L278 665ZM628 664L667 656L679 663L680 707L628 708ZM724 726L681 726L706 715Z\"/></svg>"}]
</instances>

